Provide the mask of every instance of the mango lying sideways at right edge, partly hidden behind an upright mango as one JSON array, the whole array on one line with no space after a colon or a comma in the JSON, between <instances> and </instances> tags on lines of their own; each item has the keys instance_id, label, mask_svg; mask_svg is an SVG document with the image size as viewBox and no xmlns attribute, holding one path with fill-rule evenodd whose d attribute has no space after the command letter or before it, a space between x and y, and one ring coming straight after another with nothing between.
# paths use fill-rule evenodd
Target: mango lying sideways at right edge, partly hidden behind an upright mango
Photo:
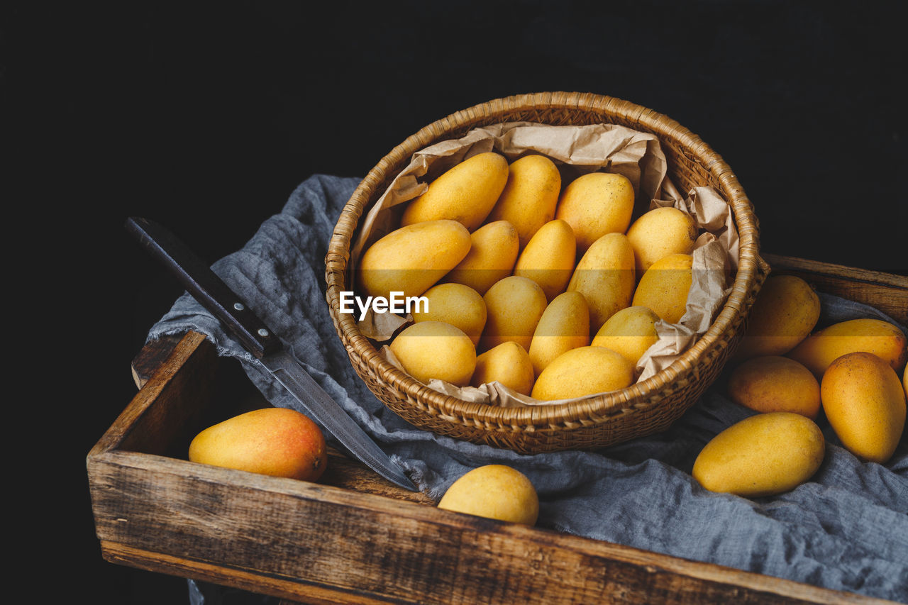
<instances>
[{"instance_id":1,"label":"mango lying sideways at right edge, partly hidden behind an upright mango","mask_svg":"<svg viewBox=\"0 0 908 605\"><path fill-rule=\"evenodd\" d=\"M872 352L898 372L908 358L908 339L904 332L883 320L848 320L814 332L787 357L803 363L819 379L836 358L859 351Z\"/></svg>"}]
</instances>

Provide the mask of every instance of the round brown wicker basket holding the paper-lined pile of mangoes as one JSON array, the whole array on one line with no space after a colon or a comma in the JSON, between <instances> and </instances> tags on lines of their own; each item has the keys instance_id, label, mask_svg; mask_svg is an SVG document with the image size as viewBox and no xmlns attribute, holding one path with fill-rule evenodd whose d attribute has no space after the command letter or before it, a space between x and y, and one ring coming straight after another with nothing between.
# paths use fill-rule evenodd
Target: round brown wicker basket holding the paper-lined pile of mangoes
<instances>
[{"instance_id":1,"label":"round brown wicker basket holding the paper-lined pile of mangoes","mask_svg":"<svg viewBox=\"0 0 908 605\"><path fill-rule=\"evenodd\" d=\"M384 360L349 313L339 312L340 292L351 290L350 243L362 217L410 156L469 130L501 122L620 124L656 134L668 175L680 191L709 185L733 209L740 237L735 283L716 321L669 367L621 391L561 405L500 408L459 400L429 389ZM721 372L743 332L747 312L765 280L758 226L735 174L703 141L665 115L597 94L520 94L475 105L429 124L381 158L350 197L335 226L326 256L331 318L350 362L390 410L408 422L457 439L523 453L590 450L665 430L696 402Z\"/></svg>"}]
</instances>

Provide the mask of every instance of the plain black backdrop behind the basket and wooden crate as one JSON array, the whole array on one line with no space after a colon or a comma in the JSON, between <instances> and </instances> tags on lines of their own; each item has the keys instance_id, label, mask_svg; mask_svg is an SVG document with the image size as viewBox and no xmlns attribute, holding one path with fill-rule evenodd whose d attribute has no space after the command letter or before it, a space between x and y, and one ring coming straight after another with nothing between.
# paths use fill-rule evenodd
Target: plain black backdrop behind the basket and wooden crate
<instances>
[{"instance_id":1,"label":"plain black backdrop behind the basket and wooden crate","mask_svg":"<svg viewBox=\"0 0 908 605\"><path fill-rule=\"evenodd\" d=\"M213 261L311 174L361 177L473 104L591 92L667 114L721 154L765 251L908 274L901 4L6 3L6 292L13 317L35 319L7 333L45 376L11 422L30 420L51 460L14 466L50 488L24 507L38 570L85 568L32 590L186 602L183 580L102 560L91 518L84 456L181 292L127 216Z\"/></svg>"}]
</instances>

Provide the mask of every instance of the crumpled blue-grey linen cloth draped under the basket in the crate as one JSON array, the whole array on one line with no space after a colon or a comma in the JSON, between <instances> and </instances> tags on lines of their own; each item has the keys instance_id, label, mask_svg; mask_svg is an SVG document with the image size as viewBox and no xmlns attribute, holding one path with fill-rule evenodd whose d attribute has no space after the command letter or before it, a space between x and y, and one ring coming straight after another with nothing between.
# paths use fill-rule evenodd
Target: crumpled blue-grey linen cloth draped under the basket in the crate
<instances>
[{"instance_id":1,"label":"crumpled blue-grey linen cloth draped under the basket in the crate","mask_svg":"<svg viewBox=\"0 0 908 605\"><path fill-rule=\"evenodd\" d=\"M668 431L601 451L521 455L419 430L390 412L353 371L325 302L324 257L356 178L314 175L242 250L213 264L325 391L438 500L464 472L508 464L536 487L538 526L834 590L908 602L908 440L885 465L862 463L824 427L825 460L794 491L748 500L703 490L690 476L716 433L753 412L718 384ZM192 243L189 242L192 246ZM823 295L821 324L881 317ZM184 293L149 332L202 332L239 358L275 406L298 407L261 364ZM904 327L903 327L904 330Z\"/></svg>"}]
</instances>

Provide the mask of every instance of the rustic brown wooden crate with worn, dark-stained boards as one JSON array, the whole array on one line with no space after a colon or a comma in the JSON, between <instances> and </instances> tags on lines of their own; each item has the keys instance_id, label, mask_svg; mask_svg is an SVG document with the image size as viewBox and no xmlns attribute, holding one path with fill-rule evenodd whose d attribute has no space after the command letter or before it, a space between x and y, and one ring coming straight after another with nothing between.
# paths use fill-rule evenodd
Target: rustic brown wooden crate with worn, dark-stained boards
<instances>
[{"instance_id":1,"label":"rustic brown wooden crate with worn, dark-stained boards","mask_svg":"<svg viewBox=\"0 0 908 605\"><path fill-rule=\"evenodd\" d=\"M908 278L767 255L908 323ZM302 603L887 602L441 511L331 452L319 483L186 460L192 435L268 405L202 335L151 342L141 389L87 457L104 559Z\"/></svg>"}]
</instances>

